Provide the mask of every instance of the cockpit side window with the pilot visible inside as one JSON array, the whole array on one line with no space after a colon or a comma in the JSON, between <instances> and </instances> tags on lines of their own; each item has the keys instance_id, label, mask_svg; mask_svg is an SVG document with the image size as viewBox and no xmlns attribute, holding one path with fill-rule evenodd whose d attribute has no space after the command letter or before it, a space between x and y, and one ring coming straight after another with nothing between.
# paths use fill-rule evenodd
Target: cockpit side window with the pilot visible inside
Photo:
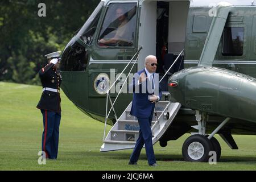
<instances>
[{"instance_id":1,"label":"cockpit side window with the pilot visible inside","mask_svg":"<svg viewBox=\"0 0 256 182\"><path fill-rule=\"evenodd\" d=\"M102 24L99 46L134 46L137 3L112 3Z\"/></svg>"}]
</instances>

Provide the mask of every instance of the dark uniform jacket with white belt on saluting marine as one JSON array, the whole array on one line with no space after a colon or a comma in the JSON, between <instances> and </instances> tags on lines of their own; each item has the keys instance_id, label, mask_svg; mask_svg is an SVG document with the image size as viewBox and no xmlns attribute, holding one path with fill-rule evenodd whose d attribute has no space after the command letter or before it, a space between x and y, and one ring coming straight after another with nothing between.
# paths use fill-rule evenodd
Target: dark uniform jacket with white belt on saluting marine
<instances>
[{"instance_id":1,"label":"dark uniform jacket with white belt on saluting marine","mask_svg":"<svg viewBox=\"0 0 256 182\"><path fill-rule=\"evenodd\" d=\"M43 88L52 88L60 90L61 84L61 75L59 70L53 69L52 63L47 64L46 67L40 69L39 76L42 82ZM38 105L36 106L38 109L44 109L49 111L54 111L56 113L61 112L60 108L60 93L59 92L51 92L48 90L44 90Z\"/></svg>"}]
</instances>

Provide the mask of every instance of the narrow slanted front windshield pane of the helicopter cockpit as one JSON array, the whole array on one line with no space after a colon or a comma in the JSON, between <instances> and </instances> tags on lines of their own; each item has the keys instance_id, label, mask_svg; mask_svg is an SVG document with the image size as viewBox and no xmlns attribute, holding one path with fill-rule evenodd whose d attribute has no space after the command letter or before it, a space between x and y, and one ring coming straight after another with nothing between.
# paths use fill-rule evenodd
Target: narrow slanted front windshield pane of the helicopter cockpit
<instances>
[{"instance_id":1,"label":"narrow slanted front windshield pane of the helicopter cockpit","mask_svg":"<svg viewBox=\"0 0 256 182\"><path fill-rule=\"evenodd\" d=\"M88 18L88 20L85 22L84 26L82 26L81 30L78 32L77 36L90 46L92 44L93 35L96 31L96 27L98 24L98 20L100 19L100 14L102 7L104 5L104 2L100 2L96 9L93 11L92 15Z\"/></svg>"}]
</instances>

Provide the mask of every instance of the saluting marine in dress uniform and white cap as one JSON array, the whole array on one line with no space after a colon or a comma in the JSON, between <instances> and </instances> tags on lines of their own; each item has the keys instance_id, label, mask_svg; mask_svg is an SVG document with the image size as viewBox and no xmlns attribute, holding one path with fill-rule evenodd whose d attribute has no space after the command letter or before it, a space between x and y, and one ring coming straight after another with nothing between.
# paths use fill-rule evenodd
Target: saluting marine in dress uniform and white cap
<instances>
[{"instance_id":1,"label":"saluting marine in dress uniform and white cap","mask_svg":"<svg viewBox=\"0 0 256 182\"><path fill-rule=\"evenodd\" d=\"M48 64L39 71L43 93L36 107L43 115L42 151L46 152L46 158L57 159L61 119L60 84L62 78L58 69L60 51L45 56Z\"/></svg>"}]
</instances>

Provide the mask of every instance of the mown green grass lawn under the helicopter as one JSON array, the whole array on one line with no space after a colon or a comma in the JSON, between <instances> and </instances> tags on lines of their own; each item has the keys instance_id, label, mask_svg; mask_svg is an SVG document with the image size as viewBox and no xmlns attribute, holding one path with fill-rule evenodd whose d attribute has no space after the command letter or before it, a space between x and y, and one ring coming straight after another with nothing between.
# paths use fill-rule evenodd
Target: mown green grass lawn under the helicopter
<instances>
[{"instance_id":1,"label":"mown green grass lawn under the helicopter","mask_svg":"<svg viewBox=\"0 0 256 182\"><path fill-rule=\"evenodd\" d=\"M231 150L220 141L222 155L216 165L184 162L181 147L189 134L167 147L154 145L159 167L149 167L145 150L137 166L129 166L132 150L100 152L104 123L82 113L61 92L57 160L38 164L43 132L42 114L36 109L42 89L40 86L0 82L0 170L255 170L256 137L234 135L239 150ZM110 130L110 126L107 127Z\"/></svg>"}]
</instances>

